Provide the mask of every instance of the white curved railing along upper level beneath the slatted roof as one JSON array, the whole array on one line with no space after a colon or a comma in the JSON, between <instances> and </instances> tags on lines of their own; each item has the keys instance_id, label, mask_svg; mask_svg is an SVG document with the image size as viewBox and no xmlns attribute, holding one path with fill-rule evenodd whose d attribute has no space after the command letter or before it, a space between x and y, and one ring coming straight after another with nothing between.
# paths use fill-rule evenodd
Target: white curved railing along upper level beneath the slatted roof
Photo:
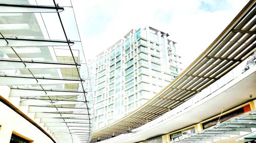
<instances>
[{"instance_id":1,"label":"white curved railing along upper level beneath the slatted roof","mask_svg":"<svg viewBox=\"0 0 256 143\"><path fill-rule=\"evenodd\" d=\"M253 63L251 63L251 62L248 63L248 61L253 61ZM158 117L157 119L155 119L151 122L146 123L145 125L143 125L141 127L133 129L131 131L131 133L121 134L121 135L118 135L118 136L115 136L115 137L112 137L112 138L109 138L109 139L106 139L106 140L103 140L100 142L114 142L114 141L118 141L121 138L131 137L131 136L134 136L134 134L137 134L139 132L148 130L155 126L159 126L159 123L164 122L167 119L176 118L177 116L180 115L179 113L183 112L185 109L187 109L190 106L198 105L199 101L202 101L209 95L212 95L213 93L215 93L216 91L218 91L219 89L224 87L224 85L229 83L231 80L237 78L238 76L240 76L241 74L246 72L246 70L248 70L249 68L252 68L253 66L255 66L255 53L252 54L252 56L250 56L250 58L243 61L237 67L235 67L230 72L228 72L226 75L221 77L219 80L210 84L207 88L203 89L200 93L196 94L194 97L190 98L189 100L187 100L183 104L179 105L178 107L174 108L173 110L170 110L170 111L164 113L164 115ZM202 102L206 102L207 100L202 101Z\"/></svg>"}]
</instances>

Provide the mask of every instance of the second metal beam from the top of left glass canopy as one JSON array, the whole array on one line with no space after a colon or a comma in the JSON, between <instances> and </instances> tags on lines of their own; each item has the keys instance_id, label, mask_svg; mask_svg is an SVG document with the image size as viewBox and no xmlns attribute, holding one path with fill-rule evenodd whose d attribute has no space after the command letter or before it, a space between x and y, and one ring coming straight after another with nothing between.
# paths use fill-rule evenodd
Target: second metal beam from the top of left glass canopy
<instances>
[{"instance_id":1,"label":"second metal beam from the top of left glass canopy","mask_svg":"<svg viewBox=\"0 0 256 143\"><path fill-rule=\"evenodd\" d=\"M8 41L8 43L6 42ZM2 38L0 37L1 47L31 47L31 46L71 46L74 42L43 40L43 39L25 39L25 38Z\"/></svg>"}]
</instances>

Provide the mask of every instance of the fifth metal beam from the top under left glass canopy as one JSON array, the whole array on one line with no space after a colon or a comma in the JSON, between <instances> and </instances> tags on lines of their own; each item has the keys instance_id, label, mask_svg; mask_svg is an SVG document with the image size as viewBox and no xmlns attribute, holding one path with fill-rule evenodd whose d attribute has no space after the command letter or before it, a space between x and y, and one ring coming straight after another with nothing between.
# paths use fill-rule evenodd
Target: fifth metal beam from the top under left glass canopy
<instances>
[{"instance_id":1,"label":"fifth metal beam from the top under left glass canopy","mask_svg":"<svg viewBox=\"0 0 256 143\"><path fill-rule=\"evenodd\" d=\"M30 97L30 96L70 96L83 95L82 91L61 91L61 90L36 90L36 89L14 89L11 88L9 97Z\"/></svg>"}]
</instances>

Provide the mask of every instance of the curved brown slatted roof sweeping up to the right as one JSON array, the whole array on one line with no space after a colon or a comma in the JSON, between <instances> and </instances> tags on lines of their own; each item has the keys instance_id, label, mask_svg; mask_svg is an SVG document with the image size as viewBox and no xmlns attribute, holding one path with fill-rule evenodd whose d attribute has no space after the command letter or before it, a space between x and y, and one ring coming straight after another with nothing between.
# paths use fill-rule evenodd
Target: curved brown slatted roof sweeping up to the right
<instances>
[{"instance_id":1,"label":"curved brown slatted roof sweeping up to the right","mask_svg":"<svg viewBox=\"0 0 256 143\"><path fill-rule=\"evenodd\" d=\"M140 127L220 79L255 51L255 1L250 1L210 46L172 83L124 118L93 133L92 141Z\"/></svg>"}]
</instances>

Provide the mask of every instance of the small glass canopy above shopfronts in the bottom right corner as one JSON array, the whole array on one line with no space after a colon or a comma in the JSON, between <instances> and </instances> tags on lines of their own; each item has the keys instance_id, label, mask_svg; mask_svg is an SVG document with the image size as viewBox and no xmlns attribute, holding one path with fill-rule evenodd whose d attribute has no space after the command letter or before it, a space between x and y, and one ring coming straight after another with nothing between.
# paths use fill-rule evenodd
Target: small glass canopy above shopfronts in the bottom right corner
<instances>
[{"instance_id":1,"label":"small glass canopy above shopfronts in the bottom right corner","mask_svg":"<svg viewBox=\"0 0 256 143\"><path fill-rule=\"evenodd\" d=\"M231 118L219 125L207 128L199 133L187 135L174 142L213 142L230 137L237 137L249 132L255 132L256 128L256 110L243 113L240 116Z\"/></svg>"}]
</instances>

